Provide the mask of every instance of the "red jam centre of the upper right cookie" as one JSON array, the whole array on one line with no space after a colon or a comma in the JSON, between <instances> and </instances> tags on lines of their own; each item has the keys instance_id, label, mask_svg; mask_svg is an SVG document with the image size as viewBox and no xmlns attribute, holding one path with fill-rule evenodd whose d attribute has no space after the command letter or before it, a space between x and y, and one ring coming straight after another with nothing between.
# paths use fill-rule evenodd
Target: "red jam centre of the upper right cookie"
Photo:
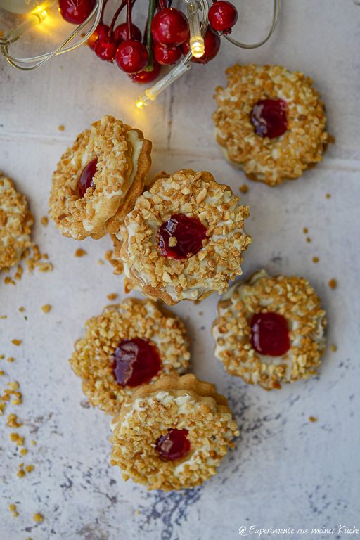
<instances>
[{"instance_id":1,"label":"red jam centre of the upper right cookie","mask_svg":"<svg viewBox=\"0 0 360 540\"><path fill-rule=\"evenodd\" d=\"M261 137L280 137L288 129L286 101L283 99L260 99L251 111L255 133Z\"/></svg>"}]
</instances>

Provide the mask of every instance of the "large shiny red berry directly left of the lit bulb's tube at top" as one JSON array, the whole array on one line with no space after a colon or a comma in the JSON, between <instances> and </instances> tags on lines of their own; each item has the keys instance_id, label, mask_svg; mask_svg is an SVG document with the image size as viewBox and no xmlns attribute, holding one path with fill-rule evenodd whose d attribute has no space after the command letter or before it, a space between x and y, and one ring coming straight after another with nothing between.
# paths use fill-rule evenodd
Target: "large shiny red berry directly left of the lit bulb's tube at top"
<instances>
[{"instance_id":1,"label":"large shiny red berry directly left of the lit bulb's tube at top","mask_svg":"<svg viewBox=\"0 0 360 540\"><path fill-rule=\"evenodd\" d=\"M181 45L188 37L188 20L178 9L165 8L153 18L151 32L162 45Z\"/></svg>"}]
</instances>

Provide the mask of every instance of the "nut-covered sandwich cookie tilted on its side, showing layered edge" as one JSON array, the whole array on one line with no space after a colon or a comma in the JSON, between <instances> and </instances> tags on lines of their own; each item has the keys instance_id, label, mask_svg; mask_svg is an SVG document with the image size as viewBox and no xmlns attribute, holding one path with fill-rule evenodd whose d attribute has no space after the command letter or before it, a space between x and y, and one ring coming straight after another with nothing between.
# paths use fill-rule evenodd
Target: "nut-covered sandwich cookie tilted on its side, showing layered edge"
<instances>
[{"instance_id":1,"label":"nut-covered sandwich cookie tilted on its side, showing layered edge","mask_svg":"<svg viewBox=\"0 0 360 540\"><path fill-rule=\"evenodd\" d=\"M49 214L60 233L84 240L117 231L143 191L151 146L107 115L79 134L53 174Z\"/></svg>"}]
</instances>

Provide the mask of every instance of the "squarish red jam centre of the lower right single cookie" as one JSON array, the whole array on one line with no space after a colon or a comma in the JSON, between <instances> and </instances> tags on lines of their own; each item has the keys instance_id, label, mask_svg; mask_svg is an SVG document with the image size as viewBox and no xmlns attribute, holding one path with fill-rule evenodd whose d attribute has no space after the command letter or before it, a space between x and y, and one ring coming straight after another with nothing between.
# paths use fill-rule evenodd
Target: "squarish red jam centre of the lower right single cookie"
<instances>
[{"instance_id":1,"label":"squarish red jam centre of the lower right single cookie","mask_svg":"<svg viewBox=\"0 0 360 540\"><path fill-rule=\"evenodd\" d=\"M250 321L250 341L259 354L283 356L290 349L288 322L282 315L257 313Z\"/></svg>"}]
</instances>

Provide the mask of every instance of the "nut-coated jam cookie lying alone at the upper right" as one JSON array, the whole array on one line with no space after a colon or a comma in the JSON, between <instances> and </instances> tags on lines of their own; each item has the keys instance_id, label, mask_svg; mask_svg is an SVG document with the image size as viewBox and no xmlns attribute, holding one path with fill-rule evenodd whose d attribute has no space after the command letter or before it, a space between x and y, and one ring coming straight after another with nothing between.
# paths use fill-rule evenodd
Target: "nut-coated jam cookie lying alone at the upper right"
<instances>
[{"instance_id":1,"label":"nut-coated jam cookie lying alone at the upper right","mask_svg":"<svg viewBox=\"0 0 360 540\"><path fill-rule=\"evenodd\" d=\"M309 77L278 65L253 64L233 65L226 75L226 88L215 89L212 120L215 139L231 165L251 180L276 186L323 159L326 116ZM285 133L266 136L277 135L284 118Z\"/></svg>"}]
</instances>

